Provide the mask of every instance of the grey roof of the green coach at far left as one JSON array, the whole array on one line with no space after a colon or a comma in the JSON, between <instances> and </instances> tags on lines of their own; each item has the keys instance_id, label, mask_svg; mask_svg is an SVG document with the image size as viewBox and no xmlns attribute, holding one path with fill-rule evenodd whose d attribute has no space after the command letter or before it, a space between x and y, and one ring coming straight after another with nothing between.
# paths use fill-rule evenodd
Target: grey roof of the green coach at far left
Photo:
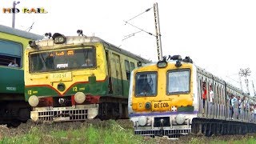
<instances>
[{"instance_id":1,"label":"grey roof of the green coach at far left","mask_svg":"<svg viewBox=\"0 0 256 144\"><path fill-rule=\"evenodd\" d=\"M6 33L6 34L13 34L18 37L29 38L29 39L34 39L34 40L43 38L42 35L33 34L33 33L30 33L30 32L24 31L24 30L18 30L18 29L11 28L9 26L2 26L2 25L0 25L0 32Z\"/></svg>"}]
</instances>

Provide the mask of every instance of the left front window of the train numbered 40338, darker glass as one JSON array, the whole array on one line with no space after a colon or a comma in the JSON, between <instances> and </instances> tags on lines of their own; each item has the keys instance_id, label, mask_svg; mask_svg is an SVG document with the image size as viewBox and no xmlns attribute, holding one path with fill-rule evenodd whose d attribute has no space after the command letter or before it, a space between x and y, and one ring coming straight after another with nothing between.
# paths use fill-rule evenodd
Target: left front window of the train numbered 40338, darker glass
<instances>
[{"instance_id":1,"label":"left front window of the train numbered 40338, darker glass","mask_svg":"<svg viewBox=\"0 0 256 144\"><path fill-rule=\"evenodd\" d=\"M155 96L157 93L157 72L141 72L135 77L135 95Z\"/></svg>"}]
</instances>

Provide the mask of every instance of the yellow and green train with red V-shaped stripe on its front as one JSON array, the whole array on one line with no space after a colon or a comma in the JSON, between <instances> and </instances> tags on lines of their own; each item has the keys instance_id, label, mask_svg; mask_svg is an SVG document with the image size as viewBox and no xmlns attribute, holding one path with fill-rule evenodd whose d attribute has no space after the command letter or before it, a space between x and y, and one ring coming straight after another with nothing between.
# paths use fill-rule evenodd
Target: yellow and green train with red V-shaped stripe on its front
<instances>
[{"instance_id":1,"label":"yellow and green train with red V-shaped stripe on its front","mask_svg":"<svg viewBox=\"0 0 256 144\"><path fill-rule=\"evenodd\" d=\"M97 37L46 34L25 50L34 122L128 118L130 71L149 61Z\"/></svg>"}]
</instances>

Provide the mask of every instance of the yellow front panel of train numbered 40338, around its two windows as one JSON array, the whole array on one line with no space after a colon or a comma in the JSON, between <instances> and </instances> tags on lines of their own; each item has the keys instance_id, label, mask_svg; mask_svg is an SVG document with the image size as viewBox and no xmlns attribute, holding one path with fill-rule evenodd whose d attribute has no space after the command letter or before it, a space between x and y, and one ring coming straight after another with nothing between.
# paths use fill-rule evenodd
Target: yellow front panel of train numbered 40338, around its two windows
<instances>
[{"instance_id":1,"label":"yellow front panel of train numbered 40338, around its two windows","mask_svg":"<svg viewBox=\"0 0 256 144\"><path fill-rule=\"evenodd\" d=\"M157 95L151 97L138 97L135 96L135 77L133 79L133 98L132 98L132 108L134 111L166 111L166 110L175 110L180 106L192 106L193 104L193 70L192 64L183 63L181 67L176 67L175 63L168 63L166 68L158 68L155 65L151 66L143 66L142 68L138 68L134 70L134 75L138 72L158 72L158 85L157 85ZM190 69L190 93L189 94L166 94L166 86L167 86L167 71L168 70L178 70L178 69ZM146 102L151 103L151 109L146 110L145 104ZM136 106L134 106L136 105ZM136 109L134 109L136 108ZM172 109L173 108L173 109Z\"/></svg>"}]
</instances>

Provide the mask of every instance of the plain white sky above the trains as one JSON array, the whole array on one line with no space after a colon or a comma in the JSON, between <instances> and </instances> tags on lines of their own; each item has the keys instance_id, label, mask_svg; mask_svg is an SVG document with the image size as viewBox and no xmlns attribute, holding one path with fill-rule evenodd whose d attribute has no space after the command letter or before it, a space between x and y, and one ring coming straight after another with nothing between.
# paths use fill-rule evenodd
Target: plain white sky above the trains
<instances>
[{"instance_id":1,"label":"plain white sky above the trains","mask_svg":"<svg viewBox=\"0 0 256 144\"><path fill-rule=\"evenodd\" d=\"M251 80L256 82L256 1L253 0L20 0L16 6L19 10L43 7L48 13L20 12L15 15L15 28L27 30L34 22L30 32L35 34L77 35L76 31L81 29L88 36L94 34L157 61L154 36L140 32L122 41L124 36L139 31L123 21L153 7L154 2L158 2L163 55L190 56L196 65L238 87L235 81L239 81L239 70L250 67L250 87ZM2 13L2 8L10 8L12 3L0 1L0 25L12 25L12 14ZM130 23L155 34L153 8ZM246 90L243 79L242 85Z\"/></svg>"}]
</instances>

